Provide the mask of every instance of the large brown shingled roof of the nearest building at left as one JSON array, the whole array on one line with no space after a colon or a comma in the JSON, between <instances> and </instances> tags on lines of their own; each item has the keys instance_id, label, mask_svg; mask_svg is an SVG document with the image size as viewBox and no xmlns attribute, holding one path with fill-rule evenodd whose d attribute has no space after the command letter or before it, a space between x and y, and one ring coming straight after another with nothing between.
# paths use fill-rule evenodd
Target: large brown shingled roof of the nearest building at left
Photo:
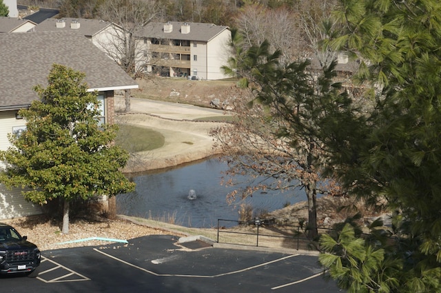
<instances>
[{"instance_id":1,"label":"large brown shingled roof of the nearest building at left","mask_svg":"<svg viewBox=\"0 0 441 293\"><path fill-rule=\"evenodd\" d=\"M90 90L124 90L138 84L81 34L15 32L0 34L0 110L22 108L38 99L35 85L47 85L52 64L85 72Z\"/></svg>"}]
</instances>

